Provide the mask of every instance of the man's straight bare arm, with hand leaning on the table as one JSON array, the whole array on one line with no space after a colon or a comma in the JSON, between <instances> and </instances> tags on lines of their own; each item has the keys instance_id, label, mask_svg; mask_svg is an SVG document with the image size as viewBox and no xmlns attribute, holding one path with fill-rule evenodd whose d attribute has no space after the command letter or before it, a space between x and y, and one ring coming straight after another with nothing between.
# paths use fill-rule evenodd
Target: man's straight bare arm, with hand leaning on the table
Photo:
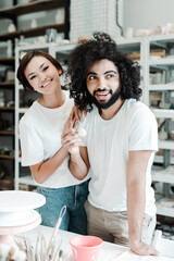
<instances>
[{"instance_id":1,"label":"man's straight bare arm, with hand leaning on the table","mask_svg":"<svg viewBox=\"0 0 174 261\"><path fill-rule=\"evenodd\" d=\"M158 251L141 243L141 227L146 203L146 171L151 151L129 151L126 186L129 245L137 254L158 254Z\"/></svg>"}]
</instances>

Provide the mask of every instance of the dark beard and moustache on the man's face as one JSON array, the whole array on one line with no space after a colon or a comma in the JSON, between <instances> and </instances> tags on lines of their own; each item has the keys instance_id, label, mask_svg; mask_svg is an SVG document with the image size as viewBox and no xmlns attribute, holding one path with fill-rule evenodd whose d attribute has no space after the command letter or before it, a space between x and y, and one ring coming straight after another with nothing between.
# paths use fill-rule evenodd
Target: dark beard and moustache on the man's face
<instances>
[{"instance_id":1,"label":"dark beard and moustache on the man's face","mask_svg":"<svg viewBox=\"0 0 174 261\"><path fill-rule=\"evenodd\" d=\"M116 100L119 99L119 97L121 96L121 87L119 87L117 90L115 90L115 92L113 94L113 91L110 89L110 94L111 94L111 98L109 99L109 101L107 102L99 102L96 98L95 98L95 92L100 92L100 91L105 91L107 89L98 89L97 91L94 91L94 95L90 95L90 101L96 104L98 107L98 109L102 109L102 110L107 110L108 108L110 108L111 105L113 105Z\"/></svg>"}]
</instances>

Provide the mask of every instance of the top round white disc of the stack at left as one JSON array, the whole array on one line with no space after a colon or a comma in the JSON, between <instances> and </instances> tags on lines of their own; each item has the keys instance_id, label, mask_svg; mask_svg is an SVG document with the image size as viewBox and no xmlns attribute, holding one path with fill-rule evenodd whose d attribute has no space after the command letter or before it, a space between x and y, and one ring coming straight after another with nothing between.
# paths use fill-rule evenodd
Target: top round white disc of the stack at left
<instances>
[{"instance_id":1,"label":"top round white disc of the stack at left","mask_svg":"<svg viewBox=\"0 0 174 261\"><path fill-rule=\"evenodd\" d=\"M0 212L16 212L37 209L46 203L46 198L33 191L0 191Z\"/></svg>"}]
</instances>

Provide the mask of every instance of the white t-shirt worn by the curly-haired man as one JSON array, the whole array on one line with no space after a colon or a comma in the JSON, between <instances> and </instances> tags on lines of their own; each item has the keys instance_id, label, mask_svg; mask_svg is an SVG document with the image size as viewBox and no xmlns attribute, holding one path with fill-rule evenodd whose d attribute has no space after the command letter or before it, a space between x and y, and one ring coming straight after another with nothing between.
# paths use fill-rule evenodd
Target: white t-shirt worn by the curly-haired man
<instances>
[{"instance_id":1,"label":"white t-shirt worn by the curly-haired man","mask_svg":"<svg viewBox=\"0 0 174 261\"><path fill-rule=\"evenodd\" d=\"M152 150L146 172L145 213L154 214L151 165L158 150L157 121L150 109L135 99L125 100L111 120L103 120L94 108L80 127L87 132L86 146L90 162L89 202L107 211L126 211L126 164L128 151Z\"/></svg>"}]
</instances>

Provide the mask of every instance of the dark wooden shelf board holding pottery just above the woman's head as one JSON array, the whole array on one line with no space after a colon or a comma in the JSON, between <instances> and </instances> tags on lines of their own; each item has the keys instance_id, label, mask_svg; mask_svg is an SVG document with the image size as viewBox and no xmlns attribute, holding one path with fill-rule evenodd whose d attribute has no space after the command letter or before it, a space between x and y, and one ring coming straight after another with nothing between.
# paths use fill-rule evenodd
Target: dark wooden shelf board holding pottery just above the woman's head
<instances>
[{"instance_id":1,"label":"dark wooden shelf board holding pottery just above the woman's head","mask_svg":"<svg viewBox=\"0 0 174 261\"><path fill-rule=\"evenodd\" d=\"M65 26L64 26L64 24L52 24L52 25L46 25L46 26L32 28L32 29L16 30L14 33L8 33L8 34L0 35L0 41L5 41L9 39L12 40L14 38L18 38L22 35L25 38L38 37L38 36L45 35L46 29L49 29L49 28L54 28L54 29L57 29L58 33L64 33Z\"/></svg>"}]
</instances>

